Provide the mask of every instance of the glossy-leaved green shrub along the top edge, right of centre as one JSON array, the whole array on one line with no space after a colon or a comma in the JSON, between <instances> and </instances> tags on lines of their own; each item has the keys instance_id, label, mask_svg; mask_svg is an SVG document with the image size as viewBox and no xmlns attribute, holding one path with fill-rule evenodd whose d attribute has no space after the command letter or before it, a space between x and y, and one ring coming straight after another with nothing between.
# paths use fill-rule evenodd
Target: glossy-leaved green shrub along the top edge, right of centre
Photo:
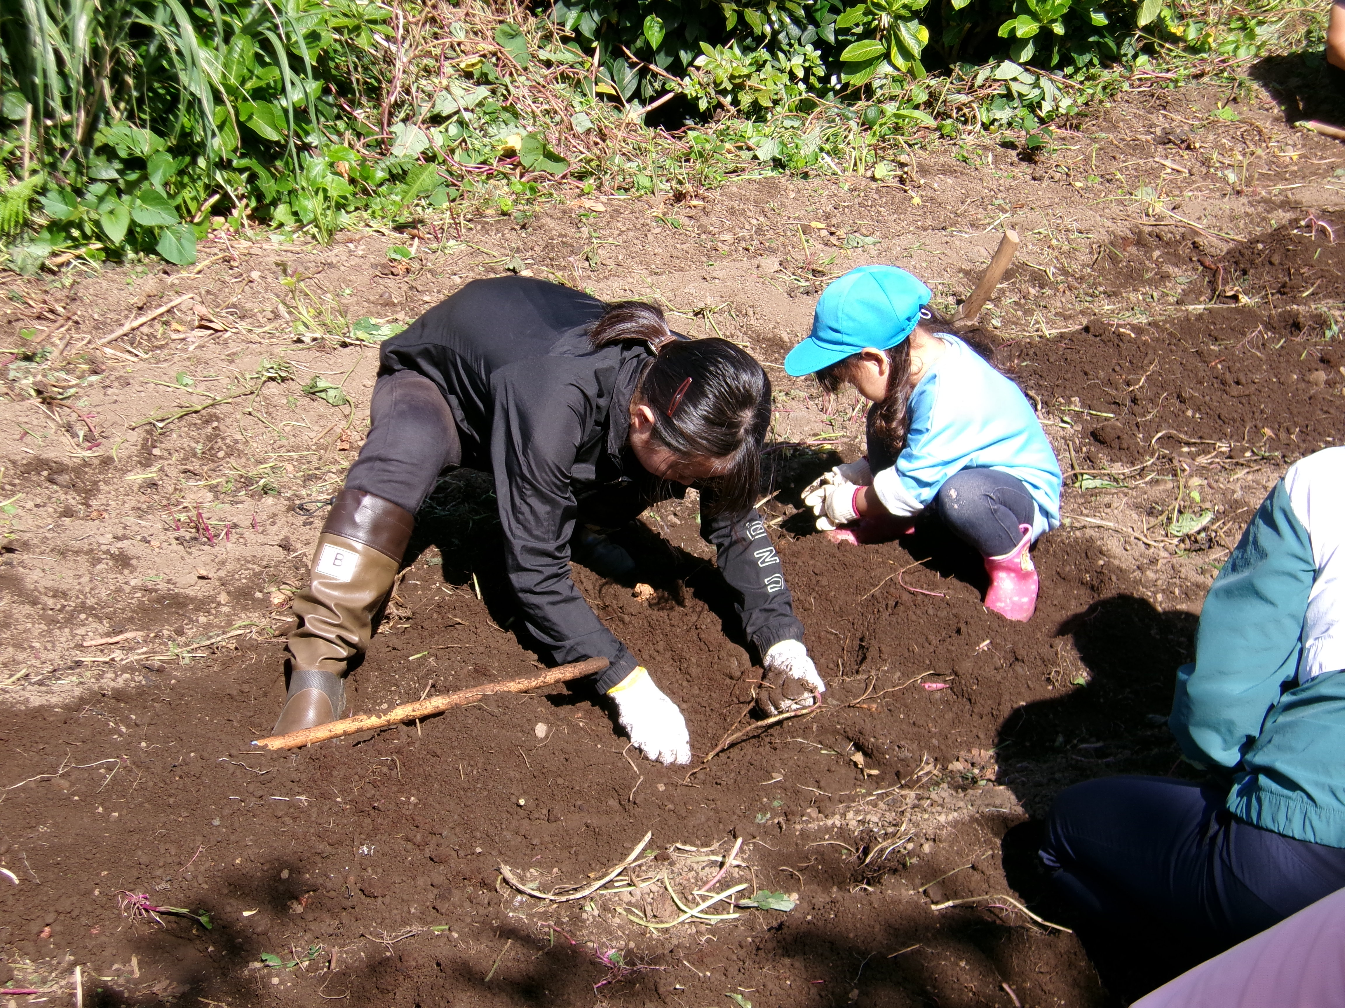
<instances>
[{"instance_id":1,"label":"glossy-leaved green shrub along the top edge, right of centre","mask_svg":"<svg viewBox=\"0 0 1345 1008\"><path fill-rule=\"evenodd\" d=\"M1184 0L557 0L553 17L597 50L605 89L623 101L682 90L702 110L757 113L796 99L882 97L931 67L1024 83L1003 86L1015 109L1046 117L1073 108L1059 86L1100 65L1134 59L1154 34L1209 48ZM632 66L631 58L639 60ZM1018 67L1003 70L1005 62ZM1042 71L1050 71L1042 75ZM1021 81L1029 73L1033 83ZM678 78L682 78L681 81ZM983 83L983 78L978 81ZM863 91L858 89L865 89ZM928 98L928 91L923 91Z\"/></svg>"}]
</instances>

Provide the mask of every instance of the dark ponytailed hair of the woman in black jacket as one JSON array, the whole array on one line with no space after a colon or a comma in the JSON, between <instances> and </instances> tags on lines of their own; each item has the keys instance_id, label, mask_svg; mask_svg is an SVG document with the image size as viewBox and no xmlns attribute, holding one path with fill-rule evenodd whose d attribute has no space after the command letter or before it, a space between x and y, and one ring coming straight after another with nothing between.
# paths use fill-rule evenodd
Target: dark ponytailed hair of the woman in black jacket
<instances>
[{"instance_id":1,"label":"dark ponytailed hair of the woman in black jacket","mask_svg":"<svg viewBox=\"0 0 1345 1008\"><path fill-rule=\"evenodd\" d=\"M728 340L674 336L656 305L616 301L589 331L594 349L644 343L654 351L636 386L654 413L652 437L679 458L724 461L707 482L706 515L749 509L761 489L761 446L771 426L771 379Z\"/></svg>"}]
</instances>

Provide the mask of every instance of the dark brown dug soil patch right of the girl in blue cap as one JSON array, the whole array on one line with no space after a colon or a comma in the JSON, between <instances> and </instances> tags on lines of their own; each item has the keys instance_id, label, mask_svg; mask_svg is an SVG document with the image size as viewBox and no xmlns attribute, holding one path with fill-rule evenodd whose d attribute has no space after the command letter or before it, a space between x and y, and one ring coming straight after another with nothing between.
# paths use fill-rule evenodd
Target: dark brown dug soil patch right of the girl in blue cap
<instances>
[{"instance_id":1,"label":"dark brown dug soil patch right of the girl in blue cap","mask_svg":"<svg viewBox=\"0 0 1345 1008\"><path fill-rule=\"evenodd\" d=\"M1165 439L1196 457L1293 461L1342 437L1345 351L1323 306L1345 297L1345 241L1282 227L1206 262L1205 309L1093 319L1005 348L1024 387L1087 431L1077 468L1134 466Z\"/></svg>"}]
</instances>

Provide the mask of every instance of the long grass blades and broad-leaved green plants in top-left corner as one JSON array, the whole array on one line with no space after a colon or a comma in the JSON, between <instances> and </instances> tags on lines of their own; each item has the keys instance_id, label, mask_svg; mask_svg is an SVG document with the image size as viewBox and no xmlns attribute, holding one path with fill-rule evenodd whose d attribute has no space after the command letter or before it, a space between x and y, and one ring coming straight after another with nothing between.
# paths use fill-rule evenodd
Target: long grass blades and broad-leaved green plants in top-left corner
<instances>
[{"instance_id":1,"label":"long grass blades and broad-leaved green plants in top-left corner","mask_svg":"<svg viewBox=\"0 0 1345 1008\"><path fill-rule=\"evenodd\" d=\"M334 223L352 183L332 165L355 169L354 184L387 177L360 177L338 141L359 130L351 102L382 94L374 40L390 15L363 0L0 7L0 159L47 168L46 227L17 265L66 246L192 262L221 200Z\"/></svg>"}]
</instances>

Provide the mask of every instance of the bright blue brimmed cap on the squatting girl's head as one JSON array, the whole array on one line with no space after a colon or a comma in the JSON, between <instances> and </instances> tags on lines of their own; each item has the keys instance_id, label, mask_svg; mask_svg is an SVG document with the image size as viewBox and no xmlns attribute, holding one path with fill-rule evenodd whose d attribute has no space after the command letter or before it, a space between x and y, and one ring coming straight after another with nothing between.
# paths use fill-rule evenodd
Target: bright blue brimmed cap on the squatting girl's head
<instances>
[{"instance_id":1,"label":"bright blue brimmed cap on the squatting girl's head","mask_svg":"<svg viewBox=\"0 0 1345 1008\"><path fill-rule=\"evenodd\" d=\"M929 288L896 266L850 270L822 292L812 332L785 356L785 374L811 375L865 347L896 347L915 331L929 297Z\"/></svg>"}]
</instances>

